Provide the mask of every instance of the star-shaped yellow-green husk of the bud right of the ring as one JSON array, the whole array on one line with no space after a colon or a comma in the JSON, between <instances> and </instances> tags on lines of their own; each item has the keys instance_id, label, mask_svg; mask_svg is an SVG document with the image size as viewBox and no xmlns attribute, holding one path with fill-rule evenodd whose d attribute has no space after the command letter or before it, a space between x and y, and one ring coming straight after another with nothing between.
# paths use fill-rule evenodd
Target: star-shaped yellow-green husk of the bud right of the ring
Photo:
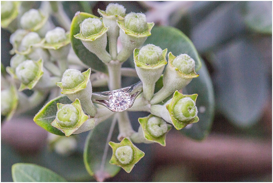
<instances>
[{"instance_id":1,"label":"star-shaped yellow-green husk of the bud right of the ring","mask_svg":"<svg viewBox=\"0 0 273 183\"><path fill-rule=\"evenodd\" d=\"M198 94L193 94L193 95L183 95L181 93L179 93L178 91L175 91L174 92L174 96L172 98L172 101L166 105L166 108L168 109L169 113L170 113L170 118L172 120L172 123L174 124L174 127L176 129L182 129L184 128L185 126L187 126L188 124L191 124L191 123L196 123L199 121L199 118L197 115L195 115L193 118L189 118L189 119L186 119L186 120L183 120L181 121L180 119L178 119L175 114L174 114L174 107L175 105L177 104L177 102L182 99L182 98L186 98L186 97L189 97L191 100L194 101L194 107L195 107L195 102L196 102L196 99L197 99L197 96ZM193 106L192 106L193 107ZM197 114L197 111L196 111L196 114Z\"/></svg>"}]
</instances>

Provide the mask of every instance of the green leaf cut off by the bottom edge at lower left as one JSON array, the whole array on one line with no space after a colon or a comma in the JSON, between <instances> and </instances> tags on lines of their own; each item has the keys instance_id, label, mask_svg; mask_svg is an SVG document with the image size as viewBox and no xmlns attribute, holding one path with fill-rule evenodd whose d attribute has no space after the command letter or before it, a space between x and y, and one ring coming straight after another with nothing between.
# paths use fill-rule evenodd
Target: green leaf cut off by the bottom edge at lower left
<instances>
[{"instance_id":1,"label":"green leaf cut off by the bottom edge at lower left","mask_svg":"<svg viewBox=\"0 0 273 183\"><path fill-rule=\"evenodd\" d=\"M55 172L35 164L16 163L12 165L14 182L66 182Z\"/></svg>"}]
</instances>

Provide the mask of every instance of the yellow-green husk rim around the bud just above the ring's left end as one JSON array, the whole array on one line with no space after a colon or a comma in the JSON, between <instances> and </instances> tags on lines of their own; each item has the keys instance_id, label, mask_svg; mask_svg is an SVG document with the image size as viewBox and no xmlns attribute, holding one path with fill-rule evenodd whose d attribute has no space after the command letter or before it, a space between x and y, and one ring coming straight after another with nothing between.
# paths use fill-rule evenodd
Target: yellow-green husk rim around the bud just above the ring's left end
<instances>
[{"instance_id":1,"label":"yellow-green husk rim around the bud just above the ring's left end","mask_svg":"<svg viewBox=\"0 0 273 183\"><path fill-rule=\"evenodd\" d=\"M62 86L62 82L56 83L56 85L59 86L62 89L61 93L65 94L65 95L66 94L73 94L73 93L76 93L76 92L78 92L78 91L86 88L86 85L87 85L87 83L89 81L90 74L91 74L90 68L87 71L83 72L82 74L84 75L85 80L83 82L81 82L79 85L77 85L75 88L69 88L69 89L68 88L64 88Z\"/></svg>"}]
</instances>

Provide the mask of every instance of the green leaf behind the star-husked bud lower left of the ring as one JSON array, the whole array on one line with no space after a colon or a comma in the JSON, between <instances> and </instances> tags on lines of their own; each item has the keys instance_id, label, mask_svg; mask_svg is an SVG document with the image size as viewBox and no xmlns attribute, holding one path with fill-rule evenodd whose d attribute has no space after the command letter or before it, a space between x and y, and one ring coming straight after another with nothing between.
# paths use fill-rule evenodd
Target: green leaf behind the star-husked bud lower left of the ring
<instances>
[{"instance_id":1,"label":"green leaf behind the star-husked bud lower left of the ring","mask_svg":"<svg viewBox=\"0 0 273 183\"><path fill-rule=\"evenodd\" d=\"M50 124L56 118L56 113L58 111L57 103L71 104L72 102L65 95L54 98L45 104L45 106L35 115L33 121L50 133L65 135L61 130L51 126Z\"/></svg>"}]
</instances>

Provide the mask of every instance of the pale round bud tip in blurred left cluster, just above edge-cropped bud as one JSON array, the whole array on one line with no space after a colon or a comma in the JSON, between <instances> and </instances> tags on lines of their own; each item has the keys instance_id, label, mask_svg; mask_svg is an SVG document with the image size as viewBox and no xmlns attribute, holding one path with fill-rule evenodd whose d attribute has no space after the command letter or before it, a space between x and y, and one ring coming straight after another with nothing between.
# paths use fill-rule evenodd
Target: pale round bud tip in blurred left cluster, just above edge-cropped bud
<instances>
[{"instance_id":1,"label":"pale round bud tip in blurred left cluster, just above edge-cropped bud","mask_svg":"<svg viewBox=\"0 0 273 183\"><path fill-rule=\"evenodd\" d=\"M15 71L19 80L24 85L28 85L36 78L36 75L39 71L39 65L33 60L26 60L23 63L19 64L16 67Z\"/></svg>"}]
</instances>

